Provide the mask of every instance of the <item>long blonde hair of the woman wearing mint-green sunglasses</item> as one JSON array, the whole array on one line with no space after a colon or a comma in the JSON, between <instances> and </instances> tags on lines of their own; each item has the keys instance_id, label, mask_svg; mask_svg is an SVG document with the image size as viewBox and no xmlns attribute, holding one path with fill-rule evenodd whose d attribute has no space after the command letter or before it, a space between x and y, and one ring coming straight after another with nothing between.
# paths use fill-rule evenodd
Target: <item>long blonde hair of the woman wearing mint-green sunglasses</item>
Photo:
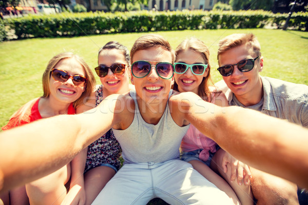
<instances>
[{"instance_id":1,"label":"long blonde hair of the woman wearing mint-green sunglasses","mask_svg":"<svg viewBox=\"0 0 308 205\"><path fill-rule=\"evenodd\" d=\"M201 84L198 87L198 95L206 101L211 101L210 91L208 89L208 80L211 80L210 65L209 65L209 50L201 40L197 38L189 38L183 40L183 42L177 47L176 56L178 56L179 53L188 49L200 53L203 59L205 60L205 64L207 64L207 76L203 77ZM178 84L176 82L174 84L173 89L179 91Z\"/></svg>"}]
</instances>

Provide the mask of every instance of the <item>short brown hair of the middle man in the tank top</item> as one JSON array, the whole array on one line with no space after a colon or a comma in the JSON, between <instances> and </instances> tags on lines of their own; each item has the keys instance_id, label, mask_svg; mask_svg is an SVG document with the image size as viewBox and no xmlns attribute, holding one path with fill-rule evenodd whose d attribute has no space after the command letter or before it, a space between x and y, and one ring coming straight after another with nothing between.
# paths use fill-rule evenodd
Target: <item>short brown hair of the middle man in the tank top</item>
<instances>
[{"instance_id":1,"label":"short brown hair of the middle man in the tank top","mask_svg":"<svg viewBox=\"0 0 308 205\"><path fill-rule=\"evenodd\" d=\"M132 62L132 56L139 50L146 50L152 47L162 47L169 51L172 55L172 64L175 61L175 51L171 48L169 42L161 35L157 34L147 34L140 36L136 42L134 42L131 50L130 50L130 61Z\"/></svg>"}]
</instances>

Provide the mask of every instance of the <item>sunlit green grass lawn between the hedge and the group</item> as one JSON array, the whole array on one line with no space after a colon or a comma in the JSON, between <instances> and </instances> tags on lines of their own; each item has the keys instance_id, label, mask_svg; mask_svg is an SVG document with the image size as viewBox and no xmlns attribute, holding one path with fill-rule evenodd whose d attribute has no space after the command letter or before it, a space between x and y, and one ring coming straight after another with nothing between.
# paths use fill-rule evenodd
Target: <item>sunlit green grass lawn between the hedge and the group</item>
<instances>
[{"instance_id":1,"label":"sunlit green grass lawn between the hedge and the group","mask_svg":"<svg viewBox=\"0 0 308 205\"><path fill-rule=\"evenodd\" d=\"M268 29L197 30L155 32L167 38L175 49L183 39L197 37L209 47L211 76L214 83L221 78L216 70L218 41L232 33L253 32L261 43L264 56L263 76L308 85L308 32ZM81 55L88 65L97 66L100 47L117 40L128 49L145 33L93 35L73 38L36 38L0 44L0 126L27 101L41 96L42 75L51 57L65 51ZM97 76L96 76L97 77ZM97 82L100 80L97 77Z\"/></svg>"}]
</instances>

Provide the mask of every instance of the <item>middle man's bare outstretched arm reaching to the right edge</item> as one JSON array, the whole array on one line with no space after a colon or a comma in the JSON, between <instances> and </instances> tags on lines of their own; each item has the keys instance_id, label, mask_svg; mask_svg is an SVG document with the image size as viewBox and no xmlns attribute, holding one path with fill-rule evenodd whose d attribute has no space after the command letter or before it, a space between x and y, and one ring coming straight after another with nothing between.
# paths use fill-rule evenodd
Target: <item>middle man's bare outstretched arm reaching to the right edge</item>
<instances>
[{"instance_id":1,"label":"middle man's bare outstretched arm reaching to the right edge","mask_svg":"<svg viewBox=\"0 0 308 205\"><path fill-rule=\"evenodd\" d=\"M234 157L308 188L307 129L254 110L222 110L199 99L188 93L176 96L172 104L182 109L185 120Z\"/></svg>"}]
</instances>

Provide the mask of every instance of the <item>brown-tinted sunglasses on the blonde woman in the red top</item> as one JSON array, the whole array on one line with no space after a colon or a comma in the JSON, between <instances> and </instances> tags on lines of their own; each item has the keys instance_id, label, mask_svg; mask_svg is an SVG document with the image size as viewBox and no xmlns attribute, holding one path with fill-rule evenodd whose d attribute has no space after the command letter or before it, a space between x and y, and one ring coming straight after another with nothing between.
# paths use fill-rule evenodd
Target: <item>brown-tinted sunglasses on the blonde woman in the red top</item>
<instances>
[{"instance_id":1,"label":"brown-tinted sunglasses on the blonde woman in the red top","mask_svg":"<svg viewBox=\"0 0 308 205\"><path fill-rule=\"evenodd\" d=\"M51 76L55 81L65 83L69 78L72 79L75 86L83 87L87 83L87 78L82 75L69 75L66 71L52 69Z\"/></svg>"}]
</instances>

